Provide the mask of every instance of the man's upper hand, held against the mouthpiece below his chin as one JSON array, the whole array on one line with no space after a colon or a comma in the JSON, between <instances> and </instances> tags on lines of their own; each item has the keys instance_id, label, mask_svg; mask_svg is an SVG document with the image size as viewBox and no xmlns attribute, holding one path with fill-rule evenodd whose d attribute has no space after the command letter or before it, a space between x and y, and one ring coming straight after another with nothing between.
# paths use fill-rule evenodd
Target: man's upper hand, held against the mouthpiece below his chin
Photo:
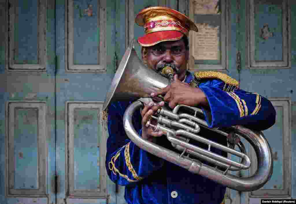
<instances>
[{"instance_id":1,"label":"man's upper hand, held against the mouthpiece below his chin","mask_svg":"<svg viewBox=\"0 0 296 204\"><path fill-rule=\"evenodd\" d=\"M152 92L151 96L164 95L164 101L169 102L169 107L174 108L178 104L196 107L201 105L208 107L209 103L204 92L200 88L190 87L189 84L181 82L175 74L174 81L158 92Z\"/></svg>"}]
</instances>

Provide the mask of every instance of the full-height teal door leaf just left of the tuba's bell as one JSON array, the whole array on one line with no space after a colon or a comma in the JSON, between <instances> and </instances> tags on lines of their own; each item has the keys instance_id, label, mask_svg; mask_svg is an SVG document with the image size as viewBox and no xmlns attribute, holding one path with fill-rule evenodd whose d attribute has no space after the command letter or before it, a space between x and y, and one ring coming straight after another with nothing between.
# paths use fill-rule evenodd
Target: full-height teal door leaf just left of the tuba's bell
<instances>
[{"instance_id":1,"label":"full-height teal door leaf just left of the tuba's bell","mask_svg":"<svg viewBox=\"0 0 296 204\"><path fill-rule=\"evenodd\" d=\"M107 203L102 105L115 70L115 1L57 1L56 20L57 203Z\"/></svg>"}]
</instances>

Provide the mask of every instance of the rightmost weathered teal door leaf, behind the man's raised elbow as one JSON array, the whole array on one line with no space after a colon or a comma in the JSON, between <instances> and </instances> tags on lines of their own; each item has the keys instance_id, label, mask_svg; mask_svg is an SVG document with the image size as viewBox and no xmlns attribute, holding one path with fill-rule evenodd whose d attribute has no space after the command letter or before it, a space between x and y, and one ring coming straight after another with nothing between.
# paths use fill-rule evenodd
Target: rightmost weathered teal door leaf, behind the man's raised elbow
<instances>
[{"instance_id":1,"label":"rightmost weathered teal door leaf, behind the man's raised elbow","mask_svg":"<svg viewBox=\"0 0 296 204\"><path fill-rule=\"evenodd\" d=\"M273 153L273 176L260 190L241 194L241 203L258 203L260 198L295 198L293 174L292 107L295 102L293 85L293 32L295 5L289 1L240 1L239 23L241 52L240 87L268 98L276 109L276 124L263 131ZM291 30L292 28L292 30ZM247 39L246 41L244 39ZM253 161L253 151L250 151ZM242 176L253 174L242 172Z\"/></svg>"}]
</instances>

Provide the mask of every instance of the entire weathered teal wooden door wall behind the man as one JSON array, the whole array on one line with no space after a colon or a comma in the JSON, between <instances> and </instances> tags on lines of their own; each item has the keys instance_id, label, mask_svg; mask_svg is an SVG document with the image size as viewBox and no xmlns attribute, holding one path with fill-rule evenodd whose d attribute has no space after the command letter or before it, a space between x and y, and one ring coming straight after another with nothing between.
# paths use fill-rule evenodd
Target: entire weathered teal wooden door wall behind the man
<instances>
[{"instance_id":1,"label":"entire weathered teal wooden door wall behind the man","mask_svg":"<svg viewBox=\"0 0 296 204\"><path fill-rule=\"evenodd\" d=\"M255 192L228 190L225 203L295 198L295 3L221 0L220 16L207 19L195 11L198 2L0 1L0 203L126 203L124 187L105 172L102 105L128 42L143 34L135 15L157 5L220 26L221 58L191 53L190 71L227 73L276 108L276 124L264 131L273 151L271 180Z\"/></svg>"}]
</instances>

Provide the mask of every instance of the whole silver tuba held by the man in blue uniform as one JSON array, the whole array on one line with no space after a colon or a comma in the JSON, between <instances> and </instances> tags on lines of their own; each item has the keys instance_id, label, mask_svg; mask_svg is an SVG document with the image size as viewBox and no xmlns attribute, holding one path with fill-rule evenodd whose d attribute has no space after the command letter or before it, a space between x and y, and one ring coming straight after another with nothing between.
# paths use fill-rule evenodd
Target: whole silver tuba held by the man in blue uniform
<instances>
[{"instance_id":1,"label":"whole silver tuba held by the man in blue uniform","mask_svg":"<svg viewBox=\"0 0 296 204\"><path fill-rule=\"evenodd\" d=\"M157 125L147 123L147 126L152 126L157 131L164 131L168 140L176 148L176 152L144 140L138 135L132 125L133 113L143 107L142 101L145 98L149 98L150 93L166 87L169 83L167 78L147 68L141 62L136 51L133 49L132 41L120 62L107 92L103 110L112 101L131 101L132 99L141 98L133 102L126 109L123 116L126 134L139 148L234 190L254 191L261 188L271 178L273 171L271 148L262 132L252 131L240 125L226 128L225 130L208 128L207 123L203 120L201 109L186 105L177 105L173 110L170 110L169 107L158 110L157 115L152 116L157 120ZM197 135L200 131L200 126L225 136L229 145L224 146ZM250 168L251 160L247 156L240 137L245 138L252 145L257 156L257 170L250 177L237 177L228 172ZM205 143L208 149L190 144L190 139ZM237 151L235 146L238 146L240 151ZM231 159L215 154L210 151L212 147L235 155L241 158L241 161L232 161ZM197 159L205 160L215 167L203 164ZM222 171L217 167L222 167L226 170Z\"/></svg>"}]
</instances>

